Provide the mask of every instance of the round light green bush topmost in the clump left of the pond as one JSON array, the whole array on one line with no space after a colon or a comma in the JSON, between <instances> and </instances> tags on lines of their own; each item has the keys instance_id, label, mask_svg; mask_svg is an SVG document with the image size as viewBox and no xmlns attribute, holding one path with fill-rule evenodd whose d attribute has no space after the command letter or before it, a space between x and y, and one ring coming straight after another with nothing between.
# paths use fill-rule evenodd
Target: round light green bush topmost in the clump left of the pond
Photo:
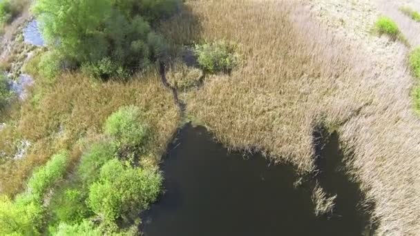
<instances>
[{"instance_id":1,"label":"round light green bush topmost in the clump left of the pond","mask_svg":"<svg viewBox=\"0 0 420 236\"><path fill-rule=\"evenodd\" d=\"M136 106L125 106L106 119L104 132L118 144L138 146L144 144L149 129L142 122L142 112Z\"/></svg>"}]
</instances>

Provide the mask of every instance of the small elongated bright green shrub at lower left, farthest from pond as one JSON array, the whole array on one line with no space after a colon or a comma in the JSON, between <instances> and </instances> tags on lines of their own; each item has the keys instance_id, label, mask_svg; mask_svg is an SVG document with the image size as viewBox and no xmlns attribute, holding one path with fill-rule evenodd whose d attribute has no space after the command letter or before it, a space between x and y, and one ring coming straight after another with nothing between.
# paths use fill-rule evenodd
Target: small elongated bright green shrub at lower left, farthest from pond
<instances>
[{"instance_id":1,"label":"small elongated bright green shrub at lower left, farthest from pond","mask_svg":"<svg viewBox=\"0 0 420 236\"><path fill-rule=\"evenodd\" d=\"M51 159L32 174L28 181L28 191L33 197L41 199L46 190L50 188L55 181L61 179L66 172L68 154L61 152L53 155Z\"/></svg>"}]
</instances>

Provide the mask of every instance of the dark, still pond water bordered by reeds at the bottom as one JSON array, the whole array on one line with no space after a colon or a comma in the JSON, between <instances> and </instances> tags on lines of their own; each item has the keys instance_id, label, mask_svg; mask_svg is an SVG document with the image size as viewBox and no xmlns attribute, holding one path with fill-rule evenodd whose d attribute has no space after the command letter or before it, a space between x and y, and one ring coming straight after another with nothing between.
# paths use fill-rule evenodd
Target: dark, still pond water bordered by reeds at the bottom
<instances>
[{"instance_id":1,"label":"dark, still pond water bordered by reeds at the bottom","mask_svg":"<svg viewBox=\"0 0 420 236\"><path fill-rule=\"evenodd\" d=\"M340 158L330 143L318 153ZM336 162L328 165L336 168ZM269 165L258 154L244 159L228 153L202 127L180 131L162 170L166 193L142 215L146 236L354 236L367 225L356 210L361 199L357 186L336 171L324 170L317 177L328 193L338 194L334 214L316 217L314 181L294 188L298 176L293 166Z\"/></svg>"}]
</instances>

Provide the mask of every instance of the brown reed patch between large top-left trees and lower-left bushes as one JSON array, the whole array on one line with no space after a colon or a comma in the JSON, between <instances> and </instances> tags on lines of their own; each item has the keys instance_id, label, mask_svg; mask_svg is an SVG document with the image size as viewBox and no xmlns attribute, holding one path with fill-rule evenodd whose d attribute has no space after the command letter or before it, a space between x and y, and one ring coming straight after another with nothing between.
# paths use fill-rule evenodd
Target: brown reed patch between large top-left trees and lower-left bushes
<instances>
[{"instance_id":1,"label":"brown reed patch between large top-left trees and lower-left bushes","mask_svg":"<svg viewBox=\"0 0 420 236\"><path fill-rule=\"evenodd\" d=\"M8 152L9 158L0 166L0 186L8 195L19 192L32 169L48 161L57 150L70 150L76 161L83 150L83 140L95 139L108 115L120 106L134 104L146 110L145 122L153 133L146 150L156 160L180 121L171 92L154 72L128 83L99 83L82 75L63 75L48 87L41 82L38 85L43 86L41 98L36 102L28 99L21 106L20 116L12 117L17 125L0 132L0 148ZM31 143L28 155L20 161L12 160L16 148L11 144L21 139Z\"/></svg>"}]
</instances>

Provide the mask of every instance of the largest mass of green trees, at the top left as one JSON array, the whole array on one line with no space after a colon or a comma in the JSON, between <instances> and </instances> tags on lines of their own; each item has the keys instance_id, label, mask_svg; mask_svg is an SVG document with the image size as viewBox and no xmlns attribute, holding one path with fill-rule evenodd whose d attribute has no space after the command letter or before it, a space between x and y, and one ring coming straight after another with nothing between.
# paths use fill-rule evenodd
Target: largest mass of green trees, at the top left
<instances>
[{"instance_id":1,"label":"largest mass of green trees, at the top left","mask_svg":"<svg viewBox=\"0 0 420 236\"><path fill-rule=\"evenodd\" d=\"M164 56L164 39L151 24L179 6L178 0L38 0L34 12L57 61L108 79L127 77Z\"/></svg>"}]
</instances>

